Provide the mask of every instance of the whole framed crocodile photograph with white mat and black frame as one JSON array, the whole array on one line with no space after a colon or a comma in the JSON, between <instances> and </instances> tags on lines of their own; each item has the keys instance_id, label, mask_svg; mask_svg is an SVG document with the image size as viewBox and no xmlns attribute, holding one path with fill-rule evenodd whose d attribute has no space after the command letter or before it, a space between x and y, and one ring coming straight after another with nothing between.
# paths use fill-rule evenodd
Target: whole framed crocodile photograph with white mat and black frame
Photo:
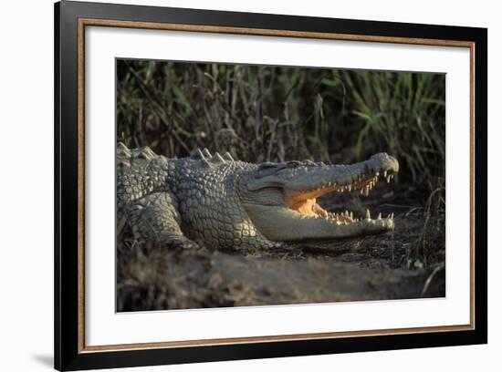
<instances>
[{"instance_id":1,"label":"whole framed crocodile photograph with white mat and black frame","mask_svg":"<svg viewBox=\"0 0 502 372\"><path fill-rule=\"evenodd\" d=\"M55 24L57 369L486 343L486 29Z\"/></svg>"}]
</instances>

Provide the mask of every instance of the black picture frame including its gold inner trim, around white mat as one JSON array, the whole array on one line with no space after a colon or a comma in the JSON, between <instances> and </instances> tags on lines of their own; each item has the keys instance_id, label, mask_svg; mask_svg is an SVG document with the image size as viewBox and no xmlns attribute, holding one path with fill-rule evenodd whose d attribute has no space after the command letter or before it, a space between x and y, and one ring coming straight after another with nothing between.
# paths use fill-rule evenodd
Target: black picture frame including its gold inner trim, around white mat
<instances>
[{"instance_id":1,"label":"black picture frame including its gold inner trim, around white mat","mask_svg":"<svg viewBox=\"0 0 502 372\"><path fill-rule=\"evenodd\" d=\"M469 321L339 332L168 342L86 342L86 28L338 40L378 47L465 48L469 53ZM123 56L121 56L123 57ZM309 356L487 342L487 30L62 1L55 5L55 367L78 370ZM455 109L455 108L454 108ZM110 123L112 125L112 123ZM455 161L455 160L454 160ZM455 228L455 226L453 226ZM105 247L103 247L105 248ZM113 249L113 247L109 247ZM110 267L110 271L114 268ZM254 311L251 309L250 311ZM197 314L197 313L194 313ZM202 313L198 313L202 315Z\"/></svg>"}]
</instances>

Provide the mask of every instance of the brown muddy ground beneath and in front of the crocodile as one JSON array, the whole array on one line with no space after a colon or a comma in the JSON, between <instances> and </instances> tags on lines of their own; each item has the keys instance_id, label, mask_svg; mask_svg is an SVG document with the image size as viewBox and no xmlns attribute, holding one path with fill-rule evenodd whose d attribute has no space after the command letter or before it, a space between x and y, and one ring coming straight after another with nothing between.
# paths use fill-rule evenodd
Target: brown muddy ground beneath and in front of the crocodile
<instances>
[{"instance_id":1,"label":"brown muddy ground beneath and in front of the crocodile","mask_svg":"<svg viewBox=\"0 0 502 372\"><path fill-rule=\"evenodd\" d=\"M444 212L405 186L377 186L369 198L327 195L329 211L373 217L394 212L392 233L229 253L141 246L120 234L117 309L308 304L442 297Z\"/></svg>"}]
</instances>

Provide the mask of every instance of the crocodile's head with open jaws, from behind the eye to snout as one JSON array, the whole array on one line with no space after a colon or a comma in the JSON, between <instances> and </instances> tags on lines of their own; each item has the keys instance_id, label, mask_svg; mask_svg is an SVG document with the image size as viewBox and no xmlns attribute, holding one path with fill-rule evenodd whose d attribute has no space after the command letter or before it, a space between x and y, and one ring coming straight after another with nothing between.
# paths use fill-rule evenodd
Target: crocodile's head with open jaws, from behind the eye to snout
<instances>
[{"instance_id":1,"label":"crocodile's head with open jaws, from behind the eye to snout","mask_svg":"<svg viewBox=\"0 0 502 372\"><path fill-rule=\"evenodd\" d=\"M357 191L368 195L377 181L391 181L399 163L386 153L350 165L312 161L263 163L241 187L246 212L269 240L296 242L384 233L394 227L393 215L360 219L352 212L325 211L316 202L328 192Z\"/></svg>"}]
</instances>

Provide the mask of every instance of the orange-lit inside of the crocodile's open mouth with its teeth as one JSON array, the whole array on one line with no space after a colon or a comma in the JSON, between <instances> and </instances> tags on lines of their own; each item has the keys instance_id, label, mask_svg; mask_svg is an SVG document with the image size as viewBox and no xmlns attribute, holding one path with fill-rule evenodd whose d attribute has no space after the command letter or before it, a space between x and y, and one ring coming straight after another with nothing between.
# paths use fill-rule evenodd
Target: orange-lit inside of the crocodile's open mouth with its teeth
<instances>
[{"instance_id":1,"label":"orange-lit inside of the crocodile's open mouth with its teeth","mask_svg":"<svg viewBox=\"0 0 502 372\"><path fill-rule=\"evenodd\" d=\"M327 182L319 186L319 188L309 191L286 191L287 206L289 210L298 212L298 217L301 219L328 219L338 225L358 222L368 223L371 221L384 222L383 220L388 220L384 224L393 227L393 213L386 217L382 217L382 213L379 213L376 219L372 220L371 212L368 209L364 216L359 217L355 216L354 212L348 210L344 212L328 212L318 204L317 198L329 192L360 192L361 195L368 196L378 181L390 183L394 177L395 174L392 171L376 171L362 174L357 180L351 183L339 184L336 182Z\"/></svg>"}]
</instances>

